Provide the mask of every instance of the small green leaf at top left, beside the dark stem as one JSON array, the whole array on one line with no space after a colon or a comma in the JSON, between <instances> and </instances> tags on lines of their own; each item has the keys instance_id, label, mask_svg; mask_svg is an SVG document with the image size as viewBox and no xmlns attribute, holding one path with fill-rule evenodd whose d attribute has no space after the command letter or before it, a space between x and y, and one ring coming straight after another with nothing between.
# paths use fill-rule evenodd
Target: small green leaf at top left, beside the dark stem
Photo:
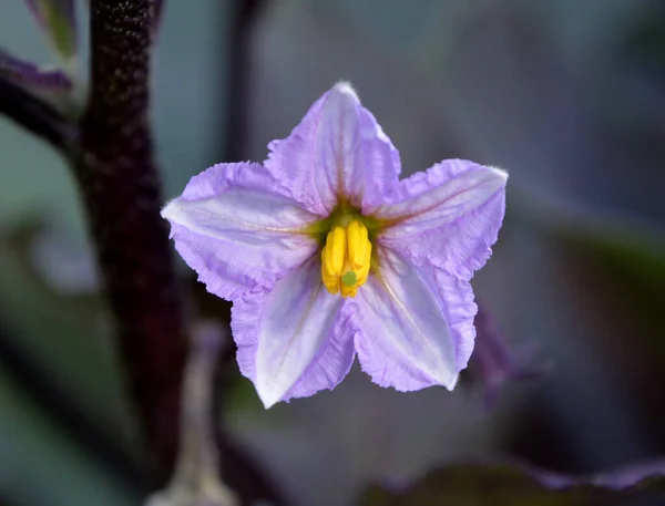
<instances>
[{"instance_id":1,"label":"small green leaf at top left, beside the dark stem","mask_svg":"<svg viewBox=\"0 0 665 506\"><path fill-rule=\"evenodd\" d=\"M25 0L49 42L65 60L76 56L74 0Z\"/></svg>"}]
</instances>

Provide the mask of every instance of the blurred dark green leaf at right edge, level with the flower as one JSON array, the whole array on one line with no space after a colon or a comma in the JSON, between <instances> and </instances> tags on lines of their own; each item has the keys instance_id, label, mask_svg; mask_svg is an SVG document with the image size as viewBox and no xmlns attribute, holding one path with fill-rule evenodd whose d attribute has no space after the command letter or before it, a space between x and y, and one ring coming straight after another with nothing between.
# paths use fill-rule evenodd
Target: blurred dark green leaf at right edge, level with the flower
<instances>
[{"instance_id":1,"label":"blurred dark green leaf at right edge, level with the flower","mask_svg":"<svg viewBox=\"0 0 665 506\"><path fill-rule=\"evenodd\" d=\"M514 218L525 219L554 238L585 275L601 277L603 291L597 295L611 298L620 308L607 318L631 321L636 340L649 347L648 357L665 363L665 240L659 229L640 217L531 199L513 213ZM592 291L596 282L585 288Z\"/></svg>"}]
</instances>

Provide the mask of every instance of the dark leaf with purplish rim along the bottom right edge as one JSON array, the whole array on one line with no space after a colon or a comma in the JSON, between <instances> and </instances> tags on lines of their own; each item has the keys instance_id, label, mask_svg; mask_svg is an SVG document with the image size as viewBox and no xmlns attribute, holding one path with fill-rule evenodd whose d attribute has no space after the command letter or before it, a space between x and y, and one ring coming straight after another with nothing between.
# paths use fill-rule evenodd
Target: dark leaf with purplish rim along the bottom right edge
<instances>
[{"instance_id":1,"label":"dark leaf with purplish rim along the bottom right edge","mask_svg":"<svg viewBox=\"0 0 665 506\"><path fill-rule=\"evenodd\" d=\"M362 506L596 506L663 504L665 461L575 477L518 463L441 467L402 490L370 487Z\"/></svg>"}]
</instances>

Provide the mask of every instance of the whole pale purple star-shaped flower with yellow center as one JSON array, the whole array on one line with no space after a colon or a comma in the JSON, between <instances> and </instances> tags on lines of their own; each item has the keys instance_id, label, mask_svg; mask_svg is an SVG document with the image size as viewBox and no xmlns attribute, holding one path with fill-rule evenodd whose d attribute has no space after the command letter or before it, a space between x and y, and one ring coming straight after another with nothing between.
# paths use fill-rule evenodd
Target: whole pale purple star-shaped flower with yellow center
<instances>
[{"instance_id":1,"label":"whole pale purple star-shaped flower with yellow center","mask_svg":"<svg viewBox=\"0 0 665 506\"><path fill-rule=\"evenodd\" d=\"M241 372L266 407L335 388L356 354L399 391L452 390L491 255L507 174L441 162L398 180L397 149L347 83L263 164L218 164L166 205L207 290L233 301Z\"/></svg>"}]
</instances>

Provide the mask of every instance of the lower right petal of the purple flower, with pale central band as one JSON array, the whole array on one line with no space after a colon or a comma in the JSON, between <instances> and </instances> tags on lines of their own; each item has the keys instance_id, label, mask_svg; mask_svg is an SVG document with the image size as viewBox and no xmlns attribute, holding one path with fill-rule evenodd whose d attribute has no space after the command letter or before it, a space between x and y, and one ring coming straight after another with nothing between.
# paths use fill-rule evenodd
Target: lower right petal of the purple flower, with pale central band
<instances>
[{"instance_id":1,"label":"lower right petal of the purple flower, with pale central band","mask_svg":"<svg viewBox=\"0 0 665 506\"><path fill-rule=\"evenodd\" d=\"M453 283L438 287L431 267L417 268L385 248L378 260L378 273L357 296L362 370L400 391L434 384L452 390L473 348L475 304L468 283L448 276Z\"/></svg>"}]
</instances>

